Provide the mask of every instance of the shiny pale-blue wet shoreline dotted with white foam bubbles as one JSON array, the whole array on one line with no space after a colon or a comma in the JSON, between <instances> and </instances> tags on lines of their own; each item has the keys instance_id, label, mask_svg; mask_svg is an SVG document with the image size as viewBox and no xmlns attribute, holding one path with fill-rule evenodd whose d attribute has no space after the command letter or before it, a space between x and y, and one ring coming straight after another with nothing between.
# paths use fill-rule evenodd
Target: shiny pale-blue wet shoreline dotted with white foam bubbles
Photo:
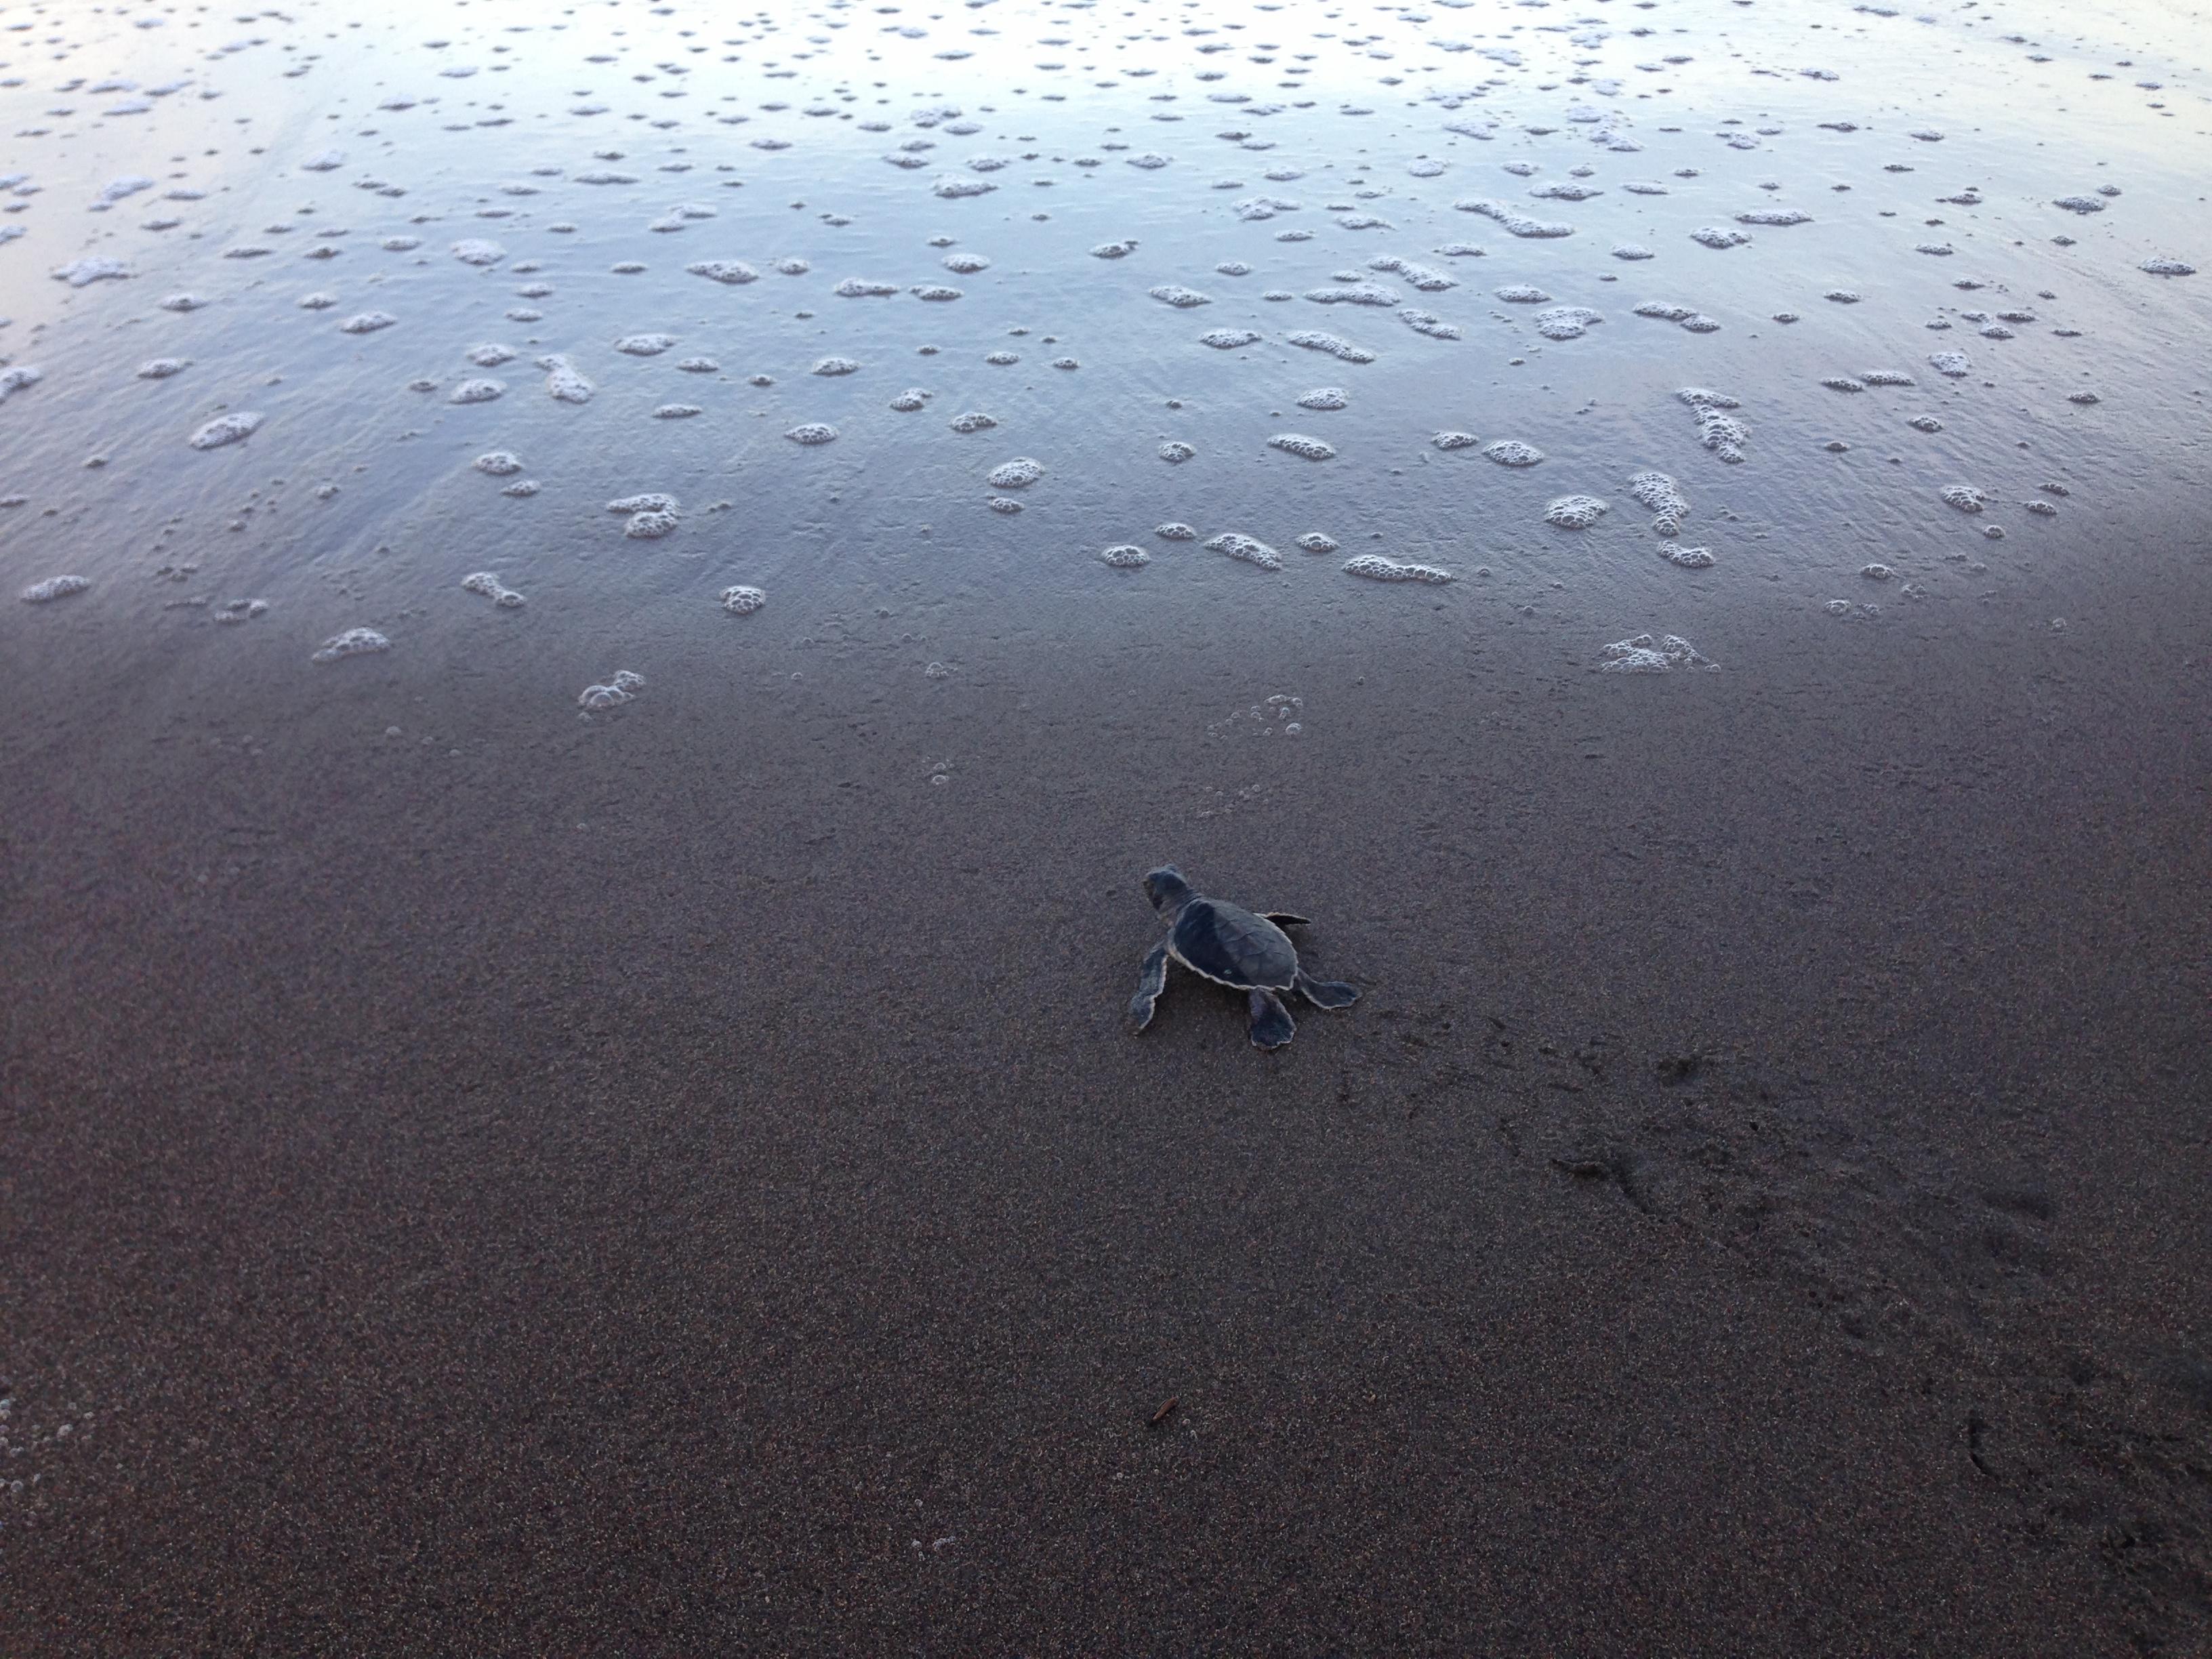
<instances>
[{"instance_id":1,"label":"shiny pale-blue wet shoreline dotted with white foam bubbles","mask_svg":"<svg viewBox=\"0 0 2212 1659\"><path fill-rule=\"evenodd\" d=\"M1776 606L2002 604L2084 518L2157 513L2205 416L2203 31L2166 7L0 40L0 535L51 606L9 628L250 624L305 699L341 635L535 633L582 690L608 611L672 666L925 606L942 657L989 611L1394 584L1469 628L1566 606L1593 666L1725 664Z\"/></svg>"}]
</instances>

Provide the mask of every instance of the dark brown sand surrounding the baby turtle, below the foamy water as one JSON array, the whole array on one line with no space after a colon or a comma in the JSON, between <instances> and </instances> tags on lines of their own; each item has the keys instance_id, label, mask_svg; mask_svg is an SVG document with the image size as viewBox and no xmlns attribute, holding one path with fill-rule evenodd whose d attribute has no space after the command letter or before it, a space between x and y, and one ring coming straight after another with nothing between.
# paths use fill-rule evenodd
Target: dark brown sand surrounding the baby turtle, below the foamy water
<instances>
[{"instance_id":1,"label":"dark brown sand surrounding the baby turtle, below the foamy water","mask_svg":"<svg viewBox=\"0 0 2212 1659\"><path fill-rule=\"evenodd\" d=\"M2205 1652L2212 604L2115 568L1015 630L949 785L858 644L38 635L0 1652ZM1363 1002L1128 1035L1164 858Z\"/></svg>"}]
</instances>

